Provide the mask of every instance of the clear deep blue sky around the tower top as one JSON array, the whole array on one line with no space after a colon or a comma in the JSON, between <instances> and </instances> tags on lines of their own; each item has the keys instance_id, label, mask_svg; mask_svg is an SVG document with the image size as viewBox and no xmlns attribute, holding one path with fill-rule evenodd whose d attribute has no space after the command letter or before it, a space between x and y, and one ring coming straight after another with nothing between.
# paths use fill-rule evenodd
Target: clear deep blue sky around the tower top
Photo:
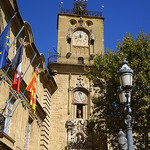
<instances>
[{"instance_id":1,"label":"clear deep blue sky around the tower top","mask_svg":"<svg viewBox=\"0 0 150 150\"><path fill-rule=\"evenodd\" d=\"M72 9L74 0L62 0L62 8ZM19 11L28 21L34 43L48 58L48 50L57 49L57 14L60 0L18 0ZM88 0L89 11L100 11L103 3L105 49L117 50L117 40L129 32L150 33L150 0Z\"/></svg>"}]
</instances>

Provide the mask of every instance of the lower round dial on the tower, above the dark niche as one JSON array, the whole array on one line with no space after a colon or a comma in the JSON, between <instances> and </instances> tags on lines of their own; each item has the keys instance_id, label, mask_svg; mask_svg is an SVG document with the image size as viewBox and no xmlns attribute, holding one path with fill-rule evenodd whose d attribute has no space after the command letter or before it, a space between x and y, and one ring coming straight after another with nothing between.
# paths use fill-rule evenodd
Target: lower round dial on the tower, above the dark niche
<instances>
[{"instance_id":1,"label":"lower round dial on the tower, above the dark niche","mask_svg":"<svg viewBox=\"0 0 150 150\"><path fill-rule=\"evenodd\" d=\"M83 102L86 103L87 96L82 91L76 91L74 92L74 99L78 103L83 103Z\"/></svg>"}]
</instances>

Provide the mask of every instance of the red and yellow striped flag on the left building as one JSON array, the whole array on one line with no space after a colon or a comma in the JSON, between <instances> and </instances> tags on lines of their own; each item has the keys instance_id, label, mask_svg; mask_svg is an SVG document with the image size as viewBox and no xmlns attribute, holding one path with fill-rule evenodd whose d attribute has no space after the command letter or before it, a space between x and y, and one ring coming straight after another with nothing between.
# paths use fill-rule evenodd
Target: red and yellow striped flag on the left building
<instances>
[{"instance_id":1,"label":"red and yellow striped flag on the left building","mask_svg":"<svg viewBox=\"0 0 150 150\"><path fill-rule=\"evenodd\" d=\"M36 78L37 78L37 69L35 70L28 86L26 87L26 91L30 92L30 108L32 110L32 114L35 114L35 105L36 105Z\"/></svg>"}]
</instances>

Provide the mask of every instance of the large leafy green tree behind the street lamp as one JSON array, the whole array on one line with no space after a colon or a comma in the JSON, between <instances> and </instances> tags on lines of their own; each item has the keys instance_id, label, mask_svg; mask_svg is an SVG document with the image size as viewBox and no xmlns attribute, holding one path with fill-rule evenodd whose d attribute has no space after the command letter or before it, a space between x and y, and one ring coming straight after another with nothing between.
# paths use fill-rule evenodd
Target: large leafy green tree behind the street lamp
<instances>
[{"instance_id":1,"label":"large leafy green tree behind the street lamp","mask_svg":"<svg viewBox=\"0 0 150 150\"><path fill-rule=\"evenodd\" d=\"M134 71L131 97L134 145L137 149L148 149L148 125L150 106L150 34L143 31L136 36L127 33L122 42L118 42L118 50L106 50L105 55L97 55L94 66L97 71L88 70L87 76L99 87L98 97L93 97L93 122L99 133L107 134L108 142L117 148L117 134L120 129L126 130L124 124L124 105L119 102L120 86L118 71L124 58Z\"/></svg>"}]
</instances>

